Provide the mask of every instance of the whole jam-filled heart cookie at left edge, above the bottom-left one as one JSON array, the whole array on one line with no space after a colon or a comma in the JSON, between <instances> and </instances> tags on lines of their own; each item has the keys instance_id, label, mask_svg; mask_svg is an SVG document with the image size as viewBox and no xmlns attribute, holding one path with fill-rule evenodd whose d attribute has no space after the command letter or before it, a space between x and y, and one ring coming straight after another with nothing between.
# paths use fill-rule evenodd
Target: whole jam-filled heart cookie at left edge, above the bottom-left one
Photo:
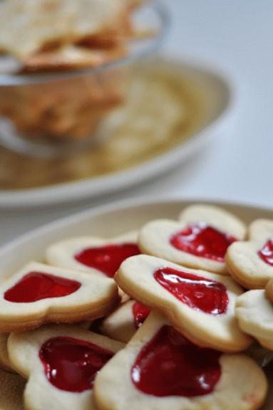
<instances>
[{"instance_id":1,"label":"whole jam-filled heart cookie at left edge, above the bottom-left one","mask_svg":"<svg viewBox=\"0 0 273 410\"><path fill-rule=\"evenodd\" d=\"M34 275L50 275L49 280L53 281L46 284L46 289L43 286L39 288L42 293L47 291L50 293L51 284L57 288L63 286L63 280L64 290L71 293L61 297L46 296L46 298L35 301L24 299L25 301L21 302L21 298L25 296L28 298L29 291L32 290L28 291L24 285L24 288L20 290L22 292L22 295L19 295L20 299L14 299L16 289L21 285L22 280L26 280L33 273ZM69 286L73 287L69 288ZM0 331L26 330L46 322L71 323L93 320L107 315L115 308L119 300L118 287L113 280L31 262L0 286Z\"/></svg>"}]
</instances>

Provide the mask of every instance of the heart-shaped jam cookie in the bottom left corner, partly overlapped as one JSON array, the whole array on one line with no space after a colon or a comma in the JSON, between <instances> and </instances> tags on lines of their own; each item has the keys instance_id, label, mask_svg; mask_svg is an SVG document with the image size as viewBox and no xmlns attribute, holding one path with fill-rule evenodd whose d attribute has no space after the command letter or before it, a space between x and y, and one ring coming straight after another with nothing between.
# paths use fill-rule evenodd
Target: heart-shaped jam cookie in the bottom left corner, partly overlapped
<instances>
[{"instance_id":1,"label":"heart-shaped jam cookie in the bottom left corner, partly overlapped","mask_svg":"<svg viewBox=\"0 0 273 410\"><path fill-rule=\"evenodd\" d=\"M51 325L13 333L12 365L28 379L24 404L29 410L94 410L96 374L123 347L79 327Z\"/></svg>"}]
</instances>

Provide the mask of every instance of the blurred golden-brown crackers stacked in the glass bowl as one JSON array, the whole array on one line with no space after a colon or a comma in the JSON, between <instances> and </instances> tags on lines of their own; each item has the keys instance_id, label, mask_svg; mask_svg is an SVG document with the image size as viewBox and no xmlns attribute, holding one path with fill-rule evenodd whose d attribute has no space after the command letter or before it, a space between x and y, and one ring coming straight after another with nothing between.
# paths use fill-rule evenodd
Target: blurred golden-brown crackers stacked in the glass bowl
<instances>
[{"instance_id":1,"label":"blurred golden-brown crackers stacked in the glass bowl","mask_svg":"<svg viewBox=\"0 0 273 410\"><path fill-rule=\"evenodd\" d=\"M0 54L28 82L2 87L0 115L29 138L81 140L123 97L120 70L31 83L34 73L101 67L128 54L140 0L3 0ZM11 59L12 58L12 59ZM0 60L0 72L1 72ZM6 63L4 64L6 68ZM15 77L16 80L16 77ZM16 80L16 84L18 84Z\"/></svg>"}]
</instances>

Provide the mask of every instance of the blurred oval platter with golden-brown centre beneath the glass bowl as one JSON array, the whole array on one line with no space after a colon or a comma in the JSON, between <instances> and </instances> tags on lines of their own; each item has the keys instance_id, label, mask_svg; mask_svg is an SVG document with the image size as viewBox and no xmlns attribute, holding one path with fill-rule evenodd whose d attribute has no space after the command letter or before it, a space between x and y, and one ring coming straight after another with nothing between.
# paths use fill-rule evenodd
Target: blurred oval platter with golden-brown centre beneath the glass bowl
<instances>
[{"instance_id":1,"label":"blurred oval platter with golden-brown centre beneath the glass bowl","mask_svg":"<svg viewBox=\"0 0 273 410\"><path fill-rule=\"evenodd\" d=\"M105 120L101 134L110 136L97 148L52 164L16 154L9 159L1 148L0 207L45 206L129 188L182 164L225 129L233 92L215 68L166 56L131 70L127 102Z\"/></svg>"}]
</instances>

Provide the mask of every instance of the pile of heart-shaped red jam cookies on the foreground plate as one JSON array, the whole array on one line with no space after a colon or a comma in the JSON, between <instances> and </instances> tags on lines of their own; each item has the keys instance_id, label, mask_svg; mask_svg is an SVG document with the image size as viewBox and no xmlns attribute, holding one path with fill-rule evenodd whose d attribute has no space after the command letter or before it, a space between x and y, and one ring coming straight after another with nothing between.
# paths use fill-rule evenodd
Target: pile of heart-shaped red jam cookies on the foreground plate
<instances>
[{"instance_id":1,"label":"pile of heart-shaped red jam cookies on the foreground plate","mask_svg":"<svg viewBox=\"0 0 273 410\"><path fill-rule=\"evenodd\" d=\"M0 287L0 408L261 409L249 347L273 350L272 235L272 221L192 205L53 243Z\"/></svg>"}]
</instances>

